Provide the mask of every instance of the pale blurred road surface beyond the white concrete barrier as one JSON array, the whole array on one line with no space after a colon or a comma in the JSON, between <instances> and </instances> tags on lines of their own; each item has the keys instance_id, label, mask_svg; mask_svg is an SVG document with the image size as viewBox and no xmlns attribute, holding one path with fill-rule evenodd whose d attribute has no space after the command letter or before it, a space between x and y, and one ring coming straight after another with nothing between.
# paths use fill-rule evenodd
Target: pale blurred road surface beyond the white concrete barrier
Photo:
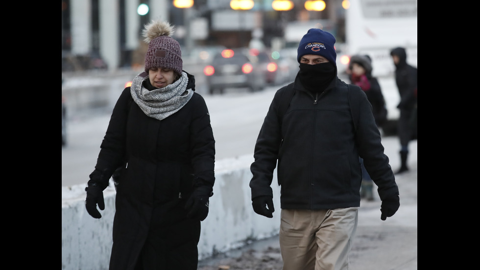
<instances>
[{"instance_id":1,"label":"pale blurred road surface beyond the white concrete barrier","mask_svg":"<svg viewBox=\"0 0 480 270\"><path fill-rule=\"evenodd\" d=\"M379 78L389 107L395 116L398 93L391 79ZM209 108L216 140L216 160L252 154L260 127L280 86L249 93L245 89L228 89L224 95L202 94ZM86 184L94 170L100 144L111 112L81 117L69 115L68 144L62 147L62 187Z\"/></svg>"}]
</instances>

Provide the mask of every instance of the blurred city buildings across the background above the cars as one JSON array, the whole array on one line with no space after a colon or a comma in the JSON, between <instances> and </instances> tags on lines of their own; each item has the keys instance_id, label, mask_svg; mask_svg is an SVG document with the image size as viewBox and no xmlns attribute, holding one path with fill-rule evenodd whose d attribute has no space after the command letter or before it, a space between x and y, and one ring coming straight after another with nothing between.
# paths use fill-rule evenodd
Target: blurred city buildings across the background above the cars
<instances>
[{"instance_id":1,"label":"blurred city buildings across the background above the cars","mask_svg":"<svg viewBox=\"0 0 480 270\"><path fill-rule=\"evenodd\" d=\"M342 0L324 0L323 11L307 11L305 0L292 0L293 9L275 11L273 0L255 0L251 10L233 10L230 0L194 0L177 8L173 0L62 0L62 72L91 69L142 68L147 45L142 27L153 19L176 26L173 37L182 51L193 46L246 47L255 38L271 47L284 38L289 22L330 20L336 38L344 40ZM149 11L139 15L146 4Z\"/></svg>"}]
</instances>

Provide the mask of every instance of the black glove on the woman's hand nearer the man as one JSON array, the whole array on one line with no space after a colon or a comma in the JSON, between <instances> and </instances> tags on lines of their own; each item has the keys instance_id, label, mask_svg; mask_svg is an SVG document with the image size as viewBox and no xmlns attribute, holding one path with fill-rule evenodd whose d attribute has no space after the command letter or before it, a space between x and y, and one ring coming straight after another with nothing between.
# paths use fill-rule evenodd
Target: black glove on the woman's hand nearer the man
<instances>
[{"instance_id":1,"label":"black glove on the woman's hand nearer the man","mask_svg":"<svg viewBox=\"0 0 480 270\"><path fill-rule=\"evenodd\" d=\"M204 221L208 215L209 197L213 195L212 187L207 185L197 186L185 203L185 209L188 211L187 217Z\"/></svg>"}]
</instances>

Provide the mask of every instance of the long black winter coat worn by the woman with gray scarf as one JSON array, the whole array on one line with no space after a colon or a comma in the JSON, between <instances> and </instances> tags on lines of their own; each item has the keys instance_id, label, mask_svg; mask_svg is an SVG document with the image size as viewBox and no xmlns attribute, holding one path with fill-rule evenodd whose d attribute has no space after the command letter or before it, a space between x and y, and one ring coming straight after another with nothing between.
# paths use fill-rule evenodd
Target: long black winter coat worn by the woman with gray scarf
<instances>
[{"instance_id":1,"label":"long black winter coat worn by the woman with gray scarf","mask_svg":"<svg viewBox=\"0 0 480 270\"><path fill-rule=\"evenodd\" d=\"M194 78L189 74L189 86ZM164 120L144 114L123 90L101 144L96 170L103 185L120 164L110 270L196 270L200 221L184 205L195 178L213 186L215 140L197 93ZM93 181L93 180L91 180Z\"/></svg>"}]
</instances>

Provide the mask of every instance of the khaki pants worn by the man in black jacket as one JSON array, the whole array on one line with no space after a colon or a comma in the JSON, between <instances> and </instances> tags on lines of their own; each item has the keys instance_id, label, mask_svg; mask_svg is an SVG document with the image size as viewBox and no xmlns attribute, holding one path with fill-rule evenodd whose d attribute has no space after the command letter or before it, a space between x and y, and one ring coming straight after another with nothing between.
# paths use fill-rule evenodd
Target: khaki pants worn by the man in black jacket
<instances>
[{"instance_id":1,"label":"khaki pants worn by the man in black jacket","mask_svg":"<svg viewBox=\"0 0 480 270\"><path fill-rule=\"evenodd\" d=\"M283 270L348 270L358 207L331 210L282 209Z\"/></svg>"}]
</instances>

